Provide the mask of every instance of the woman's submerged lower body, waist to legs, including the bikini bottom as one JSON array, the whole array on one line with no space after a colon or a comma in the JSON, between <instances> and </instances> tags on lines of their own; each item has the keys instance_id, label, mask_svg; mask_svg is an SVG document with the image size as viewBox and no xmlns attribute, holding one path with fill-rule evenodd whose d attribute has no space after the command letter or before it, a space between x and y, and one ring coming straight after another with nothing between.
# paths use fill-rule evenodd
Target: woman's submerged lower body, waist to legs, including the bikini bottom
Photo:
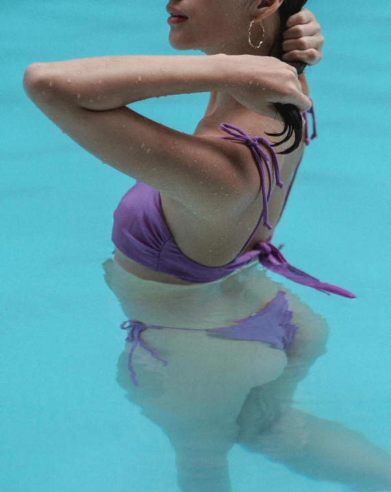
<instances>
[{"instance_id":1,"label":"woman's submerged lower body, waist to legs, including the bikini bottom","mask_svg":"<svg viewBox=\"0 0 391 492\"><path fill-rule=\"evenodd\" d=\"M235 443L315 480L391 490L388 452L293 407L329 327L257 262L193 285L139 279L112 259L102 266L128 318L117 382L167 435L180 491L232 491Z\"/></svg>"}]
</instances>

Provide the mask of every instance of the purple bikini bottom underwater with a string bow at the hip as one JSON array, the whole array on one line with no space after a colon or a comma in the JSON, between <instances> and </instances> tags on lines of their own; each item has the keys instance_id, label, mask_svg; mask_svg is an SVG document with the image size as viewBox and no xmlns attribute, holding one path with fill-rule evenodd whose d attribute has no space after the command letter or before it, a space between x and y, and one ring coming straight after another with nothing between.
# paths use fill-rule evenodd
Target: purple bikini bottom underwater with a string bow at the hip
<instances>
[{"instance_id":1,"label":"purple bikini bottom underwater with a string bow at the hip","mask_svg":"<svg viewBox=\"0 0 391 492\"><path fill-rule=\"evenodd\" d=\"M232 327L213 328L213 329L198 329L195 331L206 331L207 335L217 336L222 338L231 338L233 340L254 340L258 342L266 342L272 345L272 348L279 350L287 350L289 345L294 340L298 327L291 325L293 312L288 309L286 292L280 290L274 299L270 301L261 311L252 314L249 318L236 320ZM191 328L173 328L162 327L158 325L144 325L137 320L126 320L121 323L121 329L128 329L126 342L133 342L128 356L128 368L130 378L135 386L139 386L132 365L132 355L137 345L150 352L153 358L163 362L163 366L167 366L167 360L161 359L158 354L147 347L140 338L141 331L147 328L153 329L186 329L194 331Z\"/></svg>"}]
</instances>

